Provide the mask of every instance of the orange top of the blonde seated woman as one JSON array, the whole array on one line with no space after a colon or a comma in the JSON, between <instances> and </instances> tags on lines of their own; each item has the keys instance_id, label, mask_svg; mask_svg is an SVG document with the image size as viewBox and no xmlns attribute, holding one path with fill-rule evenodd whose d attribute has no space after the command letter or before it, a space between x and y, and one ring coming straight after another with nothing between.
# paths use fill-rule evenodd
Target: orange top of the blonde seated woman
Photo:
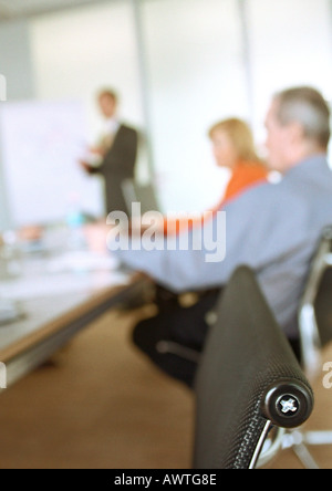
<instances>
[{"instance_id":1,"label":"orange top of the blonde seated woman","mask_svg":"<svg viewBox=\"0 0 332 491\"><path fill-rule=\"evenodd\" d=\"M211 217L220 211L224 206L231 199L237 198L239 195L248 190L249 188L263 184L267 181L268 169L261 163L246 163L241 161L232 170L231 178L227 185L222 200L212 210ZM181 230L193 229L194 227L200 227L203 224L204 216L189 218L174 218L165 219L164 233L165 234L178 234Z\"/></svg>"}]
</instances>

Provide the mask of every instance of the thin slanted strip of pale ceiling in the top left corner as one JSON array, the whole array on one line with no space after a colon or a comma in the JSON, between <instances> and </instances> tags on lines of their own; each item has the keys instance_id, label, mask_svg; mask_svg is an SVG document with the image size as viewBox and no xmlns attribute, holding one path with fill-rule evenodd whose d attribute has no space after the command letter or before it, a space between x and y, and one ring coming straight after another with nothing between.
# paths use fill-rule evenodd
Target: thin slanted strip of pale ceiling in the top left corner
<instances>
[{"instance_id":1,"label":"thin slanted strip of pale ceiling in the top left corner","mask_svg":"<svg viewBox=\"0 0 332 491\"><path fill-rule=\"evenodd\" d=\"M0 0L0 22L114 0Z\"/></svg>"}]
</instances>

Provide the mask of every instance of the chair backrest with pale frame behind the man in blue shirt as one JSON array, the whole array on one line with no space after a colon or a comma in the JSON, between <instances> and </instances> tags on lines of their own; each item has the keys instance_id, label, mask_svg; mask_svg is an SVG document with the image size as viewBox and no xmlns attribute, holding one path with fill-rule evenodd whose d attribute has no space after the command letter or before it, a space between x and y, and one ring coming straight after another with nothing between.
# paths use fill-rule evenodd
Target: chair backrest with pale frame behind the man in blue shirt
<instances>
[{"instance_id":1,"label":"chair backrest with pale frame behind the man in blue shirt","mask_svg":"<svg viewBox=\"0 0 332 491\"><path fill-rule=\"evenodd\" d=\"M309 376L320 364L321 348L332 339L332 226L323 230L299 309L302 362Z\"/></svg>"}]
</instances>

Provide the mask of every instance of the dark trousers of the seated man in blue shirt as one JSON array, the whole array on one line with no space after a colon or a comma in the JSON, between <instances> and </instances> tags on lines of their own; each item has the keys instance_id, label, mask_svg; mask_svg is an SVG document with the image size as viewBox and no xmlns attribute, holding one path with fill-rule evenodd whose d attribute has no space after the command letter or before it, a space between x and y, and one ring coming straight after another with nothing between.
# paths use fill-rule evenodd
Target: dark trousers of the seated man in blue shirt
<instances>
[{"instance_id":1,"label":"dark trousers of the seated man in blue shirt","mask_svg":"<svg viewBox=\"0 0 332 491\"><path fill-rule=\"evenodd\" d=\"M159 310L158 315L139 322L134 328L133 341L162 370L169 376L194 386L197 362L160 349L163 342L175 343L194 352L201 353L209 325L207 314L215 307L219 290L206 292L190 307L181 307L177 302Z\"/></svg>"}]
</instances>

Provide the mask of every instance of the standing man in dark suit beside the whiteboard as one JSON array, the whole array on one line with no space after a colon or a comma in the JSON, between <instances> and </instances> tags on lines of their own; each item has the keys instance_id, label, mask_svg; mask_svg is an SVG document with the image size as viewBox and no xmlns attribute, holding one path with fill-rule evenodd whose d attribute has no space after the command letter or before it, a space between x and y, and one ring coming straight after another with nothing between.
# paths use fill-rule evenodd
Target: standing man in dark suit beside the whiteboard
<instances>
[{"instance_id":1,"label":"standing man in dark suit beside the whiteboard","mask_svg":"<svg viewBox=\"0 0 332 491\"><path fill-rule=\"evenodd\" d=\"M96 148L90 150L94 157L93 164L81 161L81 165L89 174L98 174L104 178L106 213L124 211L129 215L122 185L125 179L134 179L138 134L116 117L118 100L114 91L100 92L97 101L105 118L104 134Z\"/></svg>"}]
</instances>

